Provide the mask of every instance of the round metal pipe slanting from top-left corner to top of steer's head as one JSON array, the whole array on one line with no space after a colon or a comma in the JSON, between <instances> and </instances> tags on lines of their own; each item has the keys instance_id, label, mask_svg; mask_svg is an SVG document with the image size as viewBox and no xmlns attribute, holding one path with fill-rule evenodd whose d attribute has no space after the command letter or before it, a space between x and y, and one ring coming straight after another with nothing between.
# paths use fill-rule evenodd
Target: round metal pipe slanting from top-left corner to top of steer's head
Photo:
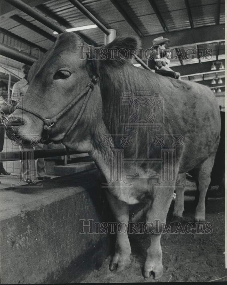
<instances>
[{"instance_id":1,"label":"round metal pipe slanting from top-left corner to top of steer's head","mask_svg":"<svg viewBox=\"0 0 227 285\"><path fill-rule=\"evenodd\" d=\"M17 9L23 11L30 17L36 19L40 23L44 24L46 27L58 32L58 33L63 33L65 32L64 28L60 27L59 25L53 23L50 21L47 17L44 17L42 14L38 13L35 9L30 7L29 5L25 4L21 0L5 0L7 3L13 5Z\"/></svg>"}]
</instances>

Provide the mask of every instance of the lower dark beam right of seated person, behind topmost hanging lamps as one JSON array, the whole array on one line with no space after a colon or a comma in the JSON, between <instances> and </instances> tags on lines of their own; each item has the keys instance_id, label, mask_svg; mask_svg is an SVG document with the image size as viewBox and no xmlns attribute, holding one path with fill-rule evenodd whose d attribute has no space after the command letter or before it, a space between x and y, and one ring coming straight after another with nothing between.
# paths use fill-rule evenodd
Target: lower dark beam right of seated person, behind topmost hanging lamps
<instances>
[{"instance_id":1,"label":"lower dark beam right of seated person, behind topmost hanging lamps","mask_svg":"<svg viewBox=\"0 0 227 285\"><path fill-rule=\"evenodd\" d=\"M194 63L194 64L187 64L187 65L179 65L179 66L173 66L171 67L174 71L179 72L181 76L192 76L192 74L202 74L202 73L216 73L216 72L223 72L223 70L210 70L211 65L214 61L208 61L208 62L201 62L201 63ZM219 60L219 62L222 62L224 64L224 60Z\"/></svg>"}]
</instances>

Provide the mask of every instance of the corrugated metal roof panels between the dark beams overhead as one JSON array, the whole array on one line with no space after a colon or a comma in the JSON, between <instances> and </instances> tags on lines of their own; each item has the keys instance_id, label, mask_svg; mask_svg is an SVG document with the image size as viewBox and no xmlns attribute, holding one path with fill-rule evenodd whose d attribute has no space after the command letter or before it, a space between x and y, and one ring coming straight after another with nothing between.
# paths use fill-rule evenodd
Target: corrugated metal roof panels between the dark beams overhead
<instances>
[{"instance_id":1,"label":"corrugated metal roof panels between the dark beams overhead","mask_svg":"<svg viewBox=\"0 0 227 285\"><path fill-rule=\"evenodd\" d=\"M79 0L103 25L107 28L113 28L116 30L118 36L137 36L136 32L125 21L122 15L118 12L115 6L109 0ZM163 32L163 28L158 20L158 17L154 13L148 0L118 0L122 9L126 11L130 19L138 27L144 36L159 34ZM190 27L189 18L183 0L153 0L155 1L158 10L165 22L169 31L183 30ZM73 27L80 27L83 25L93 24L83 13L75 8L68 0L51 0L43 4L52 13L55 13L59 17L68 21ZM189 0L189 5L193 17L193 23L195 27L215 25L217 21L217 0ZM36 9L41 13L38 9ZM29 17L25 13L19 13L20 17L29 21L33 25L41 28L47 33L53 34L53 30L44 26L40 22ZM45 16L45 15L44 15ZM220 6L220 23L224 23L224 0L221 0ZM50 18L49 18L50 19ZM55 21L52 19L52 21ZM55 21L56 22L56 21ZM29 28L19 25L13 19L4 19L4 15L0 20L1 27L6 30L21 36L30 42L36 43L46 49L50 48L53 44L52 41L46 39L44 36L33 32ZM82 34L88 36L97 44L104 44L104 33L99 29L90 29L81 31ZM19 43L15 42L15 46L19 46ZM26 47L26 45L24 46ZM193 46L194 48L195 46ZM181 48L181 51L185 52L185 48ZM190 46L187 46L187 49ZM201 58L201 62L210 61L216 59L216 45L204 44L199 48L212 48L212 58ZM36 51L32 51L34 54ZM203 56L203 54L202 54ZM224 58L224 44L219 45L218 59ZM183 59L183 64L193 64L199 62L198 58ZM181 63L178 59L171 59L170 66L179 66Z\"/></svg>"}]
</instances>

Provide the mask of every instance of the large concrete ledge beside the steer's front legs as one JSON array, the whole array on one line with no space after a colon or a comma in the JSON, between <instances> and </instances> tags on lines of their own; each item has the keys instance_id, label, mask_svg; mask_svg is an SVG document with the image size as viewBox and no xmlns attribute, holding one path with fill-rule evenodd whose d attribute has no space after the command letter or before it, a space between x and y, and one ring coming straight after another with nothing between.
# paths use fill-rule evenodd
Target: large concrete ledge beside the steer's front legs
<instances>
[{"instance_id":1,"label":"large concrete ledge beside the steer's front legs","mask_svg":"<svg viewBox=\"0 0 227 285\"><path fill-rule=\"evenodd\" d=\"M101 266L109 237L79 233L79 219L105 216L98 176L92 170L0 191L1 284L79 282Z\"/></svg>"}]
</instances>

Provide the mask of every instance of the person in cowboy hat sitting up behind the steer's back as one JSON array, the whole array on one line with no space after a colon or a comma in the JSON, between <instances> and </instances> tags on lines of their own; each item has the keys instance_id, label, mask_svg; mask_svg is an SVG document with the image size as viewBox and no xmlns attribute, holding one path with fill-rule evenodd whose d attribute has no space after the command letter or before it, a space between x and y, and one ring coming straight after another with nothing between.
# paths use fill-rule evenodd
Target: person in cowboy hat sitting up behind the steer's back
<instances>
[{"instance_id":1,"label":"person in cowboy hat sitting up behind the steer's back","mask_svg":"<svg viewBox=\"0 0 227 285\"><path fill-rule=\"evenodd\" d=\"M151 47L147 65L161 75L179 78L180 74L169 67L170 61L167 58L166 51L167 43L169 43L169 39L163 38L163 36L159 36L152 41L153 46Z\"/></svg>"}]
</instances>

